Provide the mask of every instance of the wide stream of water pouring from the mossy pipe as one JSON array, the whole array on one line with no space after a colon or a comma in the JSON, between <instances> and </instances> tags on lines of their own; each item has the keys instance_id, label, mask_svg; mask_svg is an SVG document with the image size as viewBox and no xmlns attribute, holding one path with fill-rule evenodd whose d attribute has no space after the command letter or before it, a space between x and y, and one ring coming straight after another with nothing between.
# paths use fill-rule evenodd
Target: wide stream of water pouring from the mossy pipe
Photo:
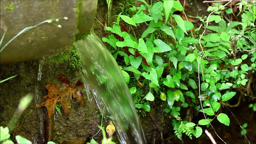
<instances>
[{"instance_id":1,"label":"wide stream of water pouring from the mossy pipe","mask_svg":"<svg viewBox=\"0 0 256 144\"><path fill-rule=\"evenodd\" d=\"M99 109L102 111L105 107L114 116L120 142L145 143L130 91L111 53L95 33L75 42L75 46L85 73L82 80L92 90Z\"/></svg>"}]
</instances>

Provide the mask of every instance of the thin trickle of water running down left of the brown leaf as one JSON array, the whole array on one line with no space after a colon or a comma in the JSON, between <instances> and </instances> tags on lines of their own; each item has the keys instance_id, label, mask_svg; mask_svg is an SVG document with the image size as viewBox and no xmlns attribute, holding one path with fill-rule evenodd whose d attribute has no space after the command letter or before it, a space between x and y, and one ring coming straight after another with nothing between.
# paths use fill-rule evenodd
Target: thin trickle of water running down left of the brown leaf
<instances>
[{"instance_id":1,"label":"thin trickle of water running down left of the brown leaf","mask_svg":"<svg viewBox=\"0 0 256 144\"><path fill-rule=\"evenodd\" d=\"M40 84L39 84L39 82L41 81L43 66L44 66L44 60L41 60L39 62L37 83L35 84L35 104L40 104L40 102L41 102L41 96L39 96L39 91L40 91L40 88L39 88ZM43 137L43 128L44 128L43 110L38 109L37 114L38 114L38 117L39 117L39 120L40 120L40 123L39 123L40 137L44 138ZM37 140L38 140L38 135L34 135L32 137L32 139L33 139L33 142L36 144Z\"/></svg>"}]
</instances>

